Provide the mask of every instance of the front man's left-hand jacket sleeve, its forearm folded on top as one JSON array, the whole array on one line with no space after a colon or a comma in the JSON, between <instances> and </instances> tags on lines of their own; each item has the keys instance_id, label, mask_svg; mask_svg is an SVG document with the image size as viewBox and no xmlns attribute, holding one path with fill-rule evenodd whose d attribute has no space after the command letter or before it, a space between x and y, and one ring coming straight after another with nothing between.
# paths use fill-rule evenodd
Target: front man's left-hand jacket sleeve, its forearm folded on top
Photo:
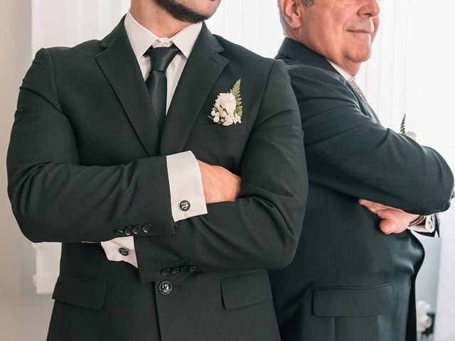
<instances>
[{"instance_id":1,"label":"front man's left-hand jacket sleeve, its forearm folded on top","mask_svg":"<svg viewBox=\"0 0 455 341\"><path fill-rule=\"evenodd\" d=\"M40 50L21 86L7 158L9 197L23 234L33 242L105 241L138 212L156 227L151 234L173 233L166 156L81 166L65 116L74 108L64 104L51 55Z\"/></svg>"}]
</instances>

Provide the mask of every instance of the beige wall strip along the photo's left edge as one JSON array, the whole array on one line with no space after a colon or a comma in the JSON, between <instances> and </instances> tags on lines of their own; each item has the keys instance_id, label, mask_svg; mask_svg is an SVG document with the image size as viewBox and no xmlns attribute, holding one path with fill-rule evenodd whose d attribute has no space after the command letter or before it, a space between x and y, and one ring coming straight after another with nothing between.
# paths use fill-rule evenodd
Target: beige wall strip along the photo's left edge
<instances>
[{"instance_id":1,"label":"beige wall strip along the photo's left edge","mask_svg":"<svg viewBox=\"0 0 455 341\"><path fill-rule=\"evenodd\" d=\"M30 65L31 1L2 0L0 11L0 339L45 340L52 301L36 296L34 251L6 195L6 149L21 79Z\"/></svg>"}]
</instances>

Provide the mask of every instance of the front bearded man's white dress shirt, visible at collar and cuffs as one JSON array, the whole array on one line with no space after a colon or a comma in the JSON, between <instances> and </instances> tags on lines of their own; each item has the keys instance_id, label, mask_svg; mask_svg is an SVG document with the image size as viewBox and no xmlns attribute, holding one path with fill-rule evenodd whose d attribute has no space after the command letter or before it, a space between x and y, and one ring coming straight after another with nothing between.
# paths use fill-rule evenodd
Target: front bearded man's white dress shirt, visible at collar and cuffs
<instances>
[{"instance_id":1,"label":"front bearded man's white dress shirt, visible at collar and cuffs","mask_svg":"<svg viewBox=\"0 0 455 341\"><path fill-rule=\"evenodd\" d=\"M186 61L193 50L193 46L196 43L196 39L202 28L202 23L195 23L182 31L177 33L171 38L159 38L154 33L151 33L147 28L141 26L132 16L130 12L124 20L125 30L129 43L132 45L134 55L136 55L137 63L141 68L142 76L144 80L149 77L151 69L150 58L144 56L146 50L153 46L158 47L169 47L176 45L179 49L176 57L173 58L166 70L167 79L167 100L166 100L166 113L171 104L172 97L176 91L178 80L180 80L183 68L186 65ZM144 114L151 114L145 113ZM194 114L194 113L188 113ZM178 137L176 137L178 138ZM166 157L168 178L169 178L169 190L171 195L171 212L175 222L183 220L196 215L205 215L207 213L207 206L205 205L205 197L202 187L202 178L200 175L200 168L191 151L183 153L177 153ZM191 203L191 207L187 211L180 209L179 204L183 200L188 200ZM134 237L119 237L108 242L101 242L103 249L105 250L107 259L110 261L127 261L137 267L136 254L134 252ZM128 252L120 249L127 249ZM126 254L126 255L125 255Z\"/></svg>"}]
</instances>

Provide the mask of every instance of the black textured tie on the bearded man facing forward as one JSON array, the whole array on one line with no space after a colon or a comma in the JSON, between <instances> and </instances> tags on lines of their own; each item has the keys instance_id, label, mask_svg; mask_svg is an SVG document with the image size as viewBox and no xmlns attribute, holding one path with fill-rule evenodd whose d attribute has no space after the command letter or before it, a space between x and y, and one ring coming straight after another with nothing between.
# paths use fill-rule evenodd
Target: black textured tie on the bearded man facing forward
<instances>
[{"instance_id":1,"label":"black textured tie on the bearded man facing forward","mask_svg":"<svg viewBox=\"0 0 455 341\"><path fill-rule=\"evenodd\" d=\"M163 129L164 120L166 119L166 69L177 53L178 48L175 45L169 48L149 48L144 53L151 60L151 70L145 84L147 90L149 90L151 106L154 108L159 131Z\"/></svg>"}]
</instances>

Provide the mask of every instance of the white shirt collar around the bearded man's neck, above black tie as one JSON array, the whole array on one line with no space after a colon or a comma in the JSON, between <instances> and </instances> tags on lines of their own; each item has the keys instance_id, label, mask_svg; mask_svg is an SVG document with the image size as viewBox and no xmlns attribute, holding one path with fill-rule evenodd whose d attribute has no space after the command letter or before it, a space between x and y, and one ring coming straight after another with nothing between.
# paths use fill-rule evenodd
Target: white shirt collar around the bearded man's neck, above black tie
<instances>
[{"instance_id":1,"label":"white shirt collar around the bearded man's neck, above black tie","mask_svg":"<svg viewBox=\"0 0 455 341\"><path fill-rule=\"evenodd\" d=\"M182 31L171 38L159 38L138 23L136 19L133 18L130 11L128 11L127 16L125 17L124 26L125 31L127 31L129 43L131 44L137 59L141 58L150 46L160 45L167 47L172 45L172 43L177 46L186 58L188 58L193 50L200 30L202 29L202 23L193 23L190 26L183 28Z\"/></svg>"}]
</instances>

